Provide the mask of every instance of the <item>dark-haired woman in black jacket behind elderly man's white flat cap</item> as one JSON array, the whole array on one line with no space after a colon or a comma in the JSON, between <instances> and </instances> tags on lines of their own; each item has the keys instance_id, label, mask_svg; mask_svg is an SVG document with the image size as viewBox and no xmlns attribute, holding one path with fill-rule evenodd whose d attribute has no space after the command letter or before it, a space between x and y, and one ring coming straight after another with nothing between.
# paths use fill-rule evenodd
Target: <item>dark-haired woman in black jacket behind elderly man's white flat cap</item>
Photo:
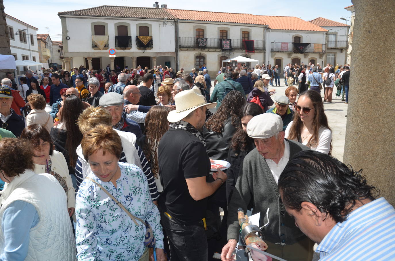
<instances>
[{"instance_id":1,"label":"dark-haired woman in black jacket behind elderly man's white flat cap","mask_svg":"<svg viewBox=\"0 0 395 261\"><path fill-rule=\"evenodd\" d=\"M252 117L262 113L262 108L256 103L246 103L240 110L240 124L232 137L227 160L230 163L230 168L226 172L228 176L228 179L226 179L226 199L228 203L235 188L237 177L239 177L241 164L246 155L255 148L254 139L250 138L246 132L247 123Z\"/></svg>"}]
</instances>

